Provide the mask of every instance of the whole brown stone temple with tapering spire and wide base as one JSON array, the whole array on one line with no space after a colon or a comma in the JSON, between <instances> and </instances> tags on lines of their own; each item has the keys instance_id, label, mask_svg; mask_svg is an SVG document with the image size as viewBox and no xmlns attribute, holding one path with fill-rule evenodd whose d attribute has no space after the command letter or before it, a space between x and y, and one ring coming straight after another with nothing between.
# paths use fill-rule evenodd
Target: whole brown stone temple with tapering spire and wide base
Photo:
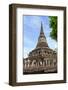
<instances>
[{"instance_id":1,"label":"whole brown stone temple with tapering spire and wide base","mask_svg":"<svg viewBox=\"0 0 68 90\"><path fill-rule=\"evenodd\" d=\"M23 74L57 73L57 52L49 48L41 23L36 48L23 59Z\"/></svg>"}]
</instances>

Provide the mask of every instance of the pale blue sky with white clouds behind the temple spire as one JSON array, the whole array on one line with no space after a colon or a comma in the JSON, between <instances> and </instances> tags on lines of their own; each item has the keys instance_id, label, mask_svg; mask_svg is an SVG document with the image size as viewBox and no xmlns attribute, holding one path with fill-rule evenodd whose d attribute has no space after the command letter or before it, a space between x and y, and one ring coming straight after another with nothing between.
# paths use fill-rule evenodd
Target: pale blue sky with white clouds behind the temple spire
<instances>
[{"instance_id":1,"label":"pale blue sky with white clouds behind the temple spire","mask_svg":"<svg viewBox=\"0 0 68 90\"><path fill-rule=\"evenodd\" d=\"M51 49L57 48L57 42L50 37L51 28L49 26L48 16L23 16L24 30L24 58L28 57L30 51L35 49L40 34L41 23L47 39L48 46Z\"/></svg>"}]
</instances>

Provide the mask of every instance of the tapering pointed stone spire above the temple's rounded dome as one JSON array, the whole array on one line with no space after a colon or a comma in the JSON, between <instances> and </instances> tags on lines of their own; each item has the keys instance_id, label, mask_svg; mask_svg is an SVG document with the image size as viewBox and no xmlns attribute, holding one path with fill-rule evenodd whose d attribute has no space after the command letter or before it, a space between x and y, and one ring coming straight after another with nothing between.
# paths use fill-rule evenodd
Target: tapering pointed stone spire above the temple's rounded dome
<instances>
[{"instance_id":1,"label":"tapering pointed stone spire above the temple's rounded dome","mask_svg":"<svg viewBox=\"0 0 68 90\"><path fill-rule=\"evenodd\" d=\"M44 35L42 23L41 23L40 35L39 35L39 38L38 38L38 43L37 43L36 48L38 48L38 47L41 47L41 48L42 47L48 47L47 40L46 40L46 37Z\"/></svg>"}]
</instances>

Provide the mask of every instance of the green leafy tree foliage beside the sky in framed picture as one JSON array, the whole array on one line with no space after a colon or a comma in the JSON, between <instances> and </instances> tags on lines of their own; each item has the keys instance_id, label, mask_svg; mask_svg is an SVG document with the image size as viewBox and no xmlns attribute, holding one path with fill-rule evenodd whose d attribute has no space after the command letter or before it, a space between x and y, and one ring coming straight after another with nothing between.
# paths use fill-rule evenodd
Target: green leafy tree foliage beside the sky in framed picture
<instances>
[{"instance_id":1,"label":"green leafy tree foliage beside the sky in framed picture","mask_svg":"<svg viewBox=\"0 0 68 90\"><path fill-rule=\"evenodd\" d=\"M57 41L57 17L49 16L49 25L51 28L50 37Z\"/></svg>"}]
</instances>

